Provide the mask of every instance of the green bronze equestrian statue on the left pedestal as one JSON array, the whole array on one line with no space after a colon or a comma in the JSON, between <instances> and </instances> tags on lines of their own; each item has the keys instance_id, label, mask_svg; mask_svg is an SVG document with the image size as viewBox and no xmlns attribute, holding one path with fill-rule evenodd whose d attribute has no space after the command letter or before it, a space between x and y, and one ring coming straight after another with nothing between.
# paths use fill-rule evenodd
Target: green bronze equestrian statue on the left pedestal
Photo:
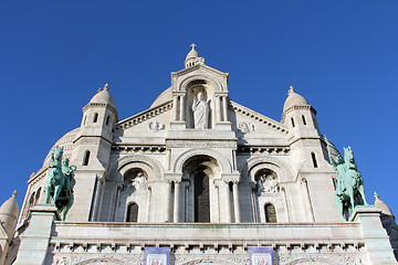
<instances>
[{"instance_id":1,"label":"green bronze equestrian statue on the left pedestal","mask_svg":"<svg viewBox=\"0 0 398 265\"><path fill-rule=\"evenodd\" d=\"M69 166L69 159L62 160L63 148L54 147L50 157L50 172L45 179L45 204L52 203L60 211L62 221L73 204L73 187L75 184L75 166Z\"/></svg>"}]
</instances>

